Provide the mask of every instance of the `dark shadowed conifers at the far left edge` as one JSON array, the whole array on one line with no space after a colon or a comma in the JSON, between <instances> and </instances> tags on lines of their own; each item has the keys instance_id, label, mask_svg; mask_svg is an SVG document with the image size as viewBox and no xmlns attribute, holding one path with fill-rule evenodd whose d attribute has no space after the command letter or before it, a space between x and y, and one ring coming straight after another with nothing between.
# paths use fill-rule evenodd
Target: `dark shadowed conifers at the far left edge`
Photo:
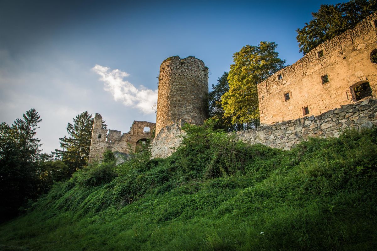
<instances>
[{"instance_id":1,"label":"dark shadowed conifers at the far left edge","mask_svg":"<svg viewBox=\"0 0 377 251\"><path fill-rule=\"evenodd\" d=\"M40 139L35 137L40 116L33 108L12 126L0 124L0 219L17 215L17 208L35 198L36 163Z\"/></svg>"}]
</instances>

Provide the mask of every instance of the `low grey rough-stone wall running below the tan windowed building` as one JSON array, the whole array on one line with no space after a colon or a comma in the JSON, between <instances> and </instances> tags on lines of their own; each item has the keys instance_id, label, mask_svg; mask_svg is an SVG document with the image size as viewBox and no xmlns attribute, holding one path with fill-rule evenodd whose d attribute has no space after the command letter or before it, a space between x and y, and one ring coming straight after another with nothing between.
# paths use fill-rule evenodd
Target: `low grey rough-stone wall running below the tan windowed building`
<instances>
[{"instance_id":1,"label":"low grey rough-stone wall running below the tan windowed building","mask_svg":"<svg viewBox=\"0 0 377 251\"><path fill-rule=\"evenodd\" d=\"M319 116L259 126L236 134L240 140L250 144L288 150L308 137L339 137L344 129L370 128L373 125L377 125L377 100L366 99L342 105Z\"/></svg>"}]
</instances>

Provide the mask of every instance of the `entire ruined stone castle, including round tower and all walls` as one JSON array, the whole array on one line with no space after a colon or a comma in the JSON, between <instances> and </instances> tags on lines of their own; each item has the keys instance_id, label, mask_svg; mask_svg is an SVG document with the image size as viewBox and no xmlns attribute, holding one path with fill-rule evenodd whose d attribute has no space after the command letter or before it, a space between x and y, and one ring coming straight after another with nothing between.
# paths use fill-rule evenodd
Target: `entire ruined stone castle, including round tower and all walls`
<instances>
[{"instance_id":1,"label":"entire ruined stone castle, including round tower and all walls","mask_svg":"<svg viewBox=\"0 0 377 251\"><path fill-rule=\"evenodd\" d=\"M346 128L377 125L377 13L354 29L320 44L293 65L257 85L261 126L237 132L250 144L290 149L307 137L338 137ZM160 66L156 124L135 121L128 133L101 127L96 114L89 163L107 149L127 154L151 139L153 157L167 157L181 143L184 123L207 119L208 68L193 56ZM145 126L156 134L152 139Z\"/></svg>"}]
</instances>

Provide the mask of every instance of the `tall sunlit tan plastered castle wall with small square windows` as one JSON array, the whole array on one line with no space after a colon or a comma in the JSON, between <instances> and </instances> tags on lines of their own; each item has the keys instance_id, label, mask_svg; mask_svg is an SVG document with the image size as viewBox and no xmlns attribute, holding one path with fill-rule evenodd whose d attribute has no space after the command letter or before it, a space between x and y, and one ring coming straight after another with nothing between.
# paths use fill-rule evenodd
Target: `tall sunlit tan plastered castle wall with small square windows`
<instances>
[{"instance_id":1,"label":"tall sunlit tan plastered castle wall with small square windows","mask_svg":"<svg viewBox=\"0 0 377 251\"><path fill-rule=\"evenodd\" d=\"M377 97L377 67L371 52L377 48L377 13L354 29L332 38L311 50L302 59L258 84L261 123L303 117L303 108L317 116L325 111L356 102L352 87L369 82L372 97ZM323 52L323 56L319 52ZM321 76L329 82L322 84ZM282 78L278 80L278 76ZM284 94L290 99L285 101Z\"/></svg>"}]
</instances>

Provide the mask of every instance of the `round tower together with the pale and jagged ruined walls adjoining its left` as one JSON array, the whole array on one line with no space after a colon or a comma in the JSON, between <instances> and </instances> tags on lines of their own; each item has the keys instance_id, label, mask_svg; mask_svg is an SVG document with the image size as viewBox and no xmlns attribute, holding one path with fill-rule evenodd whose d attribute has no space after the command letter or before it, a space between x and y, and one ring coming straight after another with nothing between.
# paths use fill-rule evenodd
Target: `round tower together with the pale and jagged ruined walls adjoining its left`
<instances>
[{"instance_id":1,"label":"round tower together with the pale and jagged ruined walls adjoining its left","mask_svg":"<svg viewBox=\"0 0 377 251\"><path fill-rule=\"evenodd\" d=\"M193 56L179 58L173 56L164 60L160 67L158 84L158 102L156 124L146 121L134 121L128 133L102 128L102 117L95 115L89 163L99 161L106 150L128 154L138 144L152 140L150 132L144 132L145 126L154 131L152 155L166 157L172 147L179 145L177 135L181 126L188 122L202 125L208 118L208 68L204 62Z\"/></svg>"}]
</instances>

